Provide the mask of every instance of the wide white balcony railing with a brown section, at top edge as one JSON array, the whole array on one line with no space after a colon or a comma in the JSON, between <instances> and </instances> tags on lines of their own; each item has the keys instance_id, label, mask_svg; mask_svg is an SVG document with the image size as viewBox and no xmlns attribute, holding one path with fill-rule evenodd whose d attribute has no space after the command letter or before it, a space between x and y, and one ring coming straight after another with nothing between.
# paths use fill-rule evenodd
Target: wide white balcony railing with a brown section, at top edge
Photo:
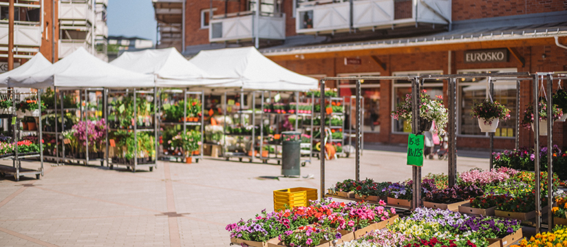
<instances>
[{"instance_id":1,"label":"wide white balcony railing with a brown section, at top edge","mask_svg":"<svg viewBox=\"0 0 567 247\"><path fill-rule=\"evenodd\" d=\"M352 7L349 1L307 1L299 4L296 14L296 32L302 34L416 23L446 25L451 19L451 0L355 0Z\"/></svg>"}]
</instances>

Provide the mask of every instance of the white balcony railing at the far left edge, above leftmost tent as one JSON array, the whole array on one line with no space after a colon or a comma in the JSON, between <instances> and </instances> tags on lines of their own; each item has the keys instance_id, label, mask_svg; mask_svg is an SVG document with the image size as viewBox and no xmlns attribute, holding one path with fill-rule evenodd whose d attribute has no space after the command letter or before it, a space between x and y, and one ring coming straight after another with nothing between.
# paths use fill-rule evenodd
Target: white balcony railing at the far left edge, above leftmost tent
<instances>
[{"instance_id":1,"label":"white balcony railing at the far left edge, above leftmost tent","mask_svg":"<svg viewBox=\"0 0 567 247\"><path fill-rule=\"evenodd\" d=\"M8 21L0 21L0 45L8 45ZM15 21L14 45L40 46L41 27L39 23Z\"/></svg>"}]
</instances>

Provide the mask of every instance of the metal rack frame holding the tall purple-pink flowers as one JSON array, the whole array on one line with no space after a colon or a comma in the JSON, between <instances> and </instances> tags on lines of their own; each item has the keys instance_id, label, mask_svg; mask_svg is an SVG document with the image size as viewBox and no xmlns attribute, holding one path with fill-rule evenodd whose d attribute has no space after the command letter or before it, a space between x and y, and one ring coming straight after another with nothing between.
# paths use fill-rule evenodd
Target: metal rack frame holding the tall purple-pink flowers
<instances>
[{"instance_id":1,"label":"metal rack frame holding the tall purple-pink flowers","mask_svg":"<svg viewBox=\"0 0 567 247\"><path fill-rule=\"evenodd\" d=\"M57 92L57 87L54 87L54 109L47 109L46 111L53 111L54 112L54 116L55 116L55 131L44 131L44 133L46 134L51 134L55 136L55 153L56 155L45 155L45 158L47 159L51 159L51 160L55 160L56 164L59 164L59 162L63 162L65 164L65 161L72 163L72 162L83 162L83 164L88 165L89 162L91 161L98 161L100 162L100 166L103 167L105 165L105 160L107 160L106 157L103 158L89 158L89 140L87 138L86 140L86 149L85 149L85 158L75 158L75 157L67 157L67 155L65 155L65 143L63 142L63 135L61 135L61 133L63 131L66 131L68 129L65 129L63 126L61 127L61 131L59 131L58 129L58 115L57 115L57 111L60 111L60 116L61 116L61 125L63 125L65 123L65 118L63 118L63 111L65 110L71 110L71 111L80 111L80 119L81 121L83 120L88 120L88 114L89 112L95 111L95 116L98 115L96 114L96 111L98 111L98 105L96 107L96 109L92 110L92 109L88 109L87 107L87 103L89 102L89 92L102 92L103 93L103 99L106 98L106 90L103 88L85 88L85 89L79 89L79 99L81 99L81 92L83 93L84 98L79 100L79 107L72 107L72 108L65 108L63 107L63 98L65 97L65 91L75 91L76 89L62 89L59 88L59 92ZM57 97L57 95L59 97ZM58 109L58 105L57 105L57 98L59 98L59 109ZM83 101L84 100L84 101ZM98 100L97 100L98 102ZM83 103L85 103L85 106L83 106ZM105 100L103 100L103 107L102 109L106 109L106 105L107 103L105 102ZM107 120L106 117L106 111L104 111L104 117L105 120ZM89 131L89 126L85 125L85 132ZM108 132L108 131L107 131ZM61 142L61 157L59 157L59 140L62 140ZM106 145L108 142L105 142ZM107 151L108 153L108 151ZM105 155L107 156L107 154ZM107 163L108 164L108 163Z\"/></svg>"}]
</instances>

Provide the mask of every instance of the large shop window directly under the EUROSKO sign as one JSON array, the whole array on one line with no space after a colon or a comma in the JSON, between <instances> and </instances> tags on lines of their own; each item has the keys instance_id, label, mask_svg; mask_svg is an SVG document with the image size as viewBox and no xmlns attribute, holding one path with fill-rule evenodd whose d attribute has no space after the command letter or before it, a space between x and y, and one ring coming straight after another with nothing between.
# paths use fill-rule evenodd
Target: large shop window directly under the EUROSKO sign
<instances>
[{"instance_id":1,"label":"large shop window directly under the EUROSKO sign","mask_svg":"<svg viewBox=\"0 0 567 247\"><path fill-rule=\"evenodd\" d=\"M497 72L517 72L516 68L510 69L466 69L459 70L458 74L478 74ZM488 78L460 78L458 85L458 133L462 136L489 136L488 133L480 132L477 118L471 116L472 107L475 103L481 103L486 99L486 86ZM493 100L510 109L511 118L501 121L494 136L513 138L515 136L516 121L516 81L498 80L493 84Z\"/></svg>"}]
</instances>

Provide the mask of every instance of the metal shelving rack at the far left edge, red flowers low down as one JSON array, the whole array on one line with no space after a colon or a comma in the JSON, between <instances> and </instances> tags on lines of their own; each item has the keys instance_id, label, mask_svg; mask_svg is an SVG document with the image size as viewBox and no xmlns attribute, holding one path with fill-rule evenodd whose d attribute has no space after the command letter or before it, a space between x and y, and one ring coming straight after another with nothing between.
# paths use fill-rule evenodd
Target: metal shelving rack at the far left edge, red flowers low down
<instances>
[{"instance_id":1,"label":"metal shelving rack at the far left edge, red flowers low down","mask_svg":"<svg viewBox=\"0 0 567 247\"><path fill-rule=\"evenodd\" d=\"M8 119L12 119L12 122L14 122L14 125L12 125L12 131L14 133L13 136L13 141L14 143L16 143L16 149L14 149L14 155L10 155L10 156L6 156L3 157L2 160L12 160L12 167L9 166L5 166L5 165L1 165L0 164L0 175L3 177L5 175L13 175L14 179L16 181L20 180L21 176L25 176L25 175L35 175L36 179L39 179L40 176L43 176L43 145L41 144L41 140L43 140L43 133L41 132L41 107L38 107L39 109L39 121L38 121L38 127L36 131L23 131L21 129L19 129L19 122L20 120L17 118L16 115L16 107L15 107L15 99L16 96L22 96L22 95L31 95L33 93L17 93L15 89L11 89L12 91L12 113L8 114L8 115L3 115L3 118L8 118ZM42 89L39 89L37 91L37 103L39 106L41 106L41 92ZM6 94L10 94L9 91L6 91ZM36 133L38 138L37 138L37 142L39 144L39 154L29 154L29 155L19 155L18 153L18 148L17 148L17 143L18 143L18 139L21 136L22 133ZM34 158L34 157L39 157L39 161L40 161L40 169L39 170L33 170L33 169L26 169L21 167L21 159L24 158Z\"/></svg>"}]
</instances>

